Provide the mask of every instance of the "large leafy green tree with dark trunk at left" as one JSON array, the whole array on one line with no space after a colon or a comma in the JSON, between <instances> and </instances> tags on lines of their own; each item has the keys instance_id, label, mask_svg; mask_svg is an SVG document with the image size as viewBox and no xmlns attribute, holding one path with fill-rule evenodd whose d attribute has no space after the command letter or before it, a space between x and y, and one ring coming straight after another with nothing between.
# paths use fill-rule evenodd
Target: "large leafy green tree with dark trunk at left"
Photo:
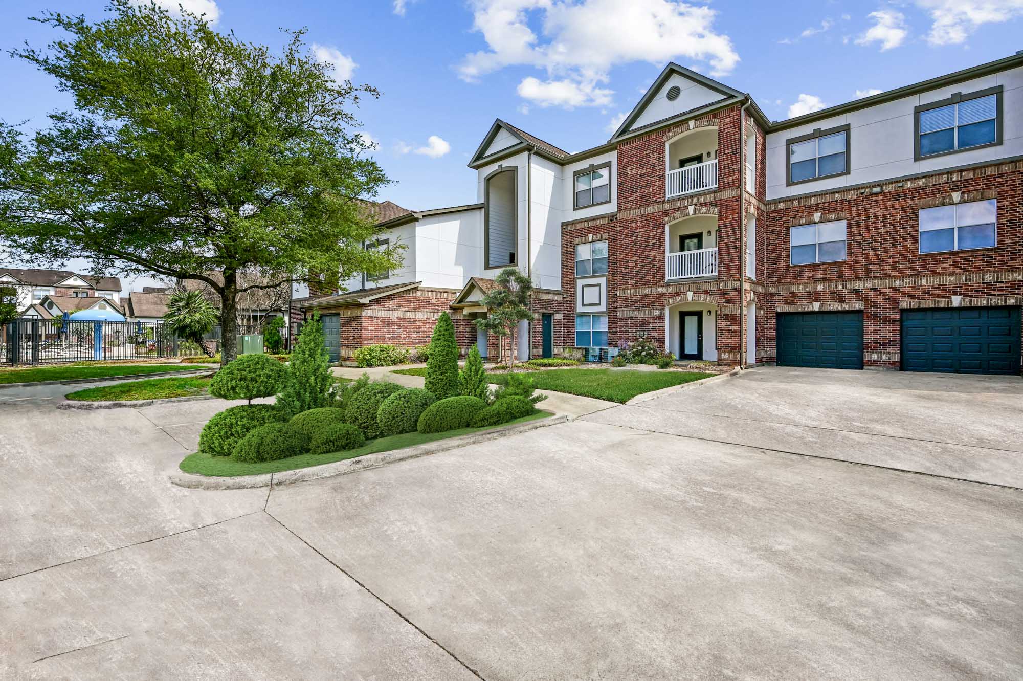
<instances>
[{"instance_id":1,"label":"large leafy green tree with dark trunk at left","mask_svg":"<svg viewBox=\"0 0 1023 681\"><path fill-rule=\"evenodd\" d=\"M32 135L0 125L0 233L24 260L208 284L225 363L239 294L398 265L362 245L374 229L359 199L387 182L352 114L372 87L335 80L303 31L275 54L151 1L107 10L95 24L44 12L66 35L12 53L75 102Z\"/></svg>"}]
</instances>

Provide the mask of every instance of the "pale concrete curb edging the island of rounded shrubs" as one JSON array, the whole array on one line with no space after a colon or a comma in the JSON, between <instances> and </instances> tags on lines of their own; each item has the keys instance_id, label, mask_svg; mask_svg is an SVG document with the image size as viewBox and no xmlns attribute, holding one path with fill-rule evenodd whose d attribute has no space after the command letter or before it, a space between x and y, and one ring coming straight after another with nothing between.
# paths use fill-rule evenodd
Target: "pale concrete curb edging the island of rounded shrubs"
<instances>
[{"instance_id":1,"label":"pale concrete curb edging the island of rounded shrubs","mask_svg":"<svg viewBox=\"0 0 1023 681\"><path fill-rule=\"evenodd\" d=\"M178 487L186 487L192 490L247 490L259 487L269 487L271 485L291 485L292 483L304 483L311 480L322 480L323 478L333 478L335 475L346 475L348 473L367 470L369 468L380 468L381 466L416 459L420 456L429 456L439 452L446 452L468 445L496 440L504 436L528 433L548 425L558 425L568 422L568 416L548 416L528 423L517 423L515 425L504 425L501 427L485 430L483 433L473 433L458 438L438 440L417 447L406 447L405 449L395 449L390 452L377 452L366 454L354 459L324 463L308 468L298 468L296 470L282 470L275 473L263 473L260 475L239 475L237 478L216 478L196 475L194 473L174 472L168 475L172 484Z\"/></svg>"}]
</instances>

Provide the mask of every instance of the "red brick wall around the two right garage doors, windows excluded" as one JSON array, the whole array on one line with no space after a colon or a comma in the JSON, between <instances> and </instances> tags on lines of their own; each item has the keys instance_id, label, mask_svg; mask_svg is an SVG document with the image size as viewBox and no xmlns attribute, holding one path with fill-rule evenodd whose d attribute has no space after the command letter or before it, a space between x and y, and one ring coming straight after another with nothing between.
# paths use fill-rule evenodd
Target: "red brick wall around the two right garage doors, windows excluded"
<instances>
[{"instance_id":1,"label":"red brick wall around the two right garage doors, windows excluded","mask_svg":"<svg viewBox=\"0 0 1023 681\"><path fill-rule=\"evenodd\" d=\"M898 368L900 310L943 307L963 296L970 305L1019 305L1023 296L1023 164L939 173L860 189L780 199L768 205L766 287L757 293L758 355L774 359L777 306L863 310L864 365ZM900 186L901 185L901 186ZM921 208L996 198L997 245L940 254L919 253ZM820 220L846 221L846 260L789 265L789 229ZM759 229L759 222L758 222ZM1007 298L1012 300L1006 300ZM973 300L971 300L973 299ZM758 326L759 326L758 323ZM762 347L761 347L762 344Z\"/></svg>"}]
</instances>

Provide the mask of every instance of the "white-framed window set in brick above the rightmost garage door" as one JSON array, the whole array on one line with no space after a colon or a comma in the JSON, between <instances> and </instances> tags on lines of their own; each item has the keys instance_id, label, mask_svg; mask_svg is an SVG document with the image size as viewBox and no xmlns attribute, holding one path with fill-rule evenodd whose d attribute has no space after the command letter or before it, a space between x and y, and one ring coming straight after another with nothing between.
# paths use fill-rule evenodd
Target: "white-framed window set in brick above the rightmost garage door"
<instances>
[{"instance_id":1,"label":"white-framed window set in brick above the rightmost garage door","mask_svg":"<svg viewBox=\"0 0 1023 681\"><path fill-rule=\"evenodd\" d=\"M920 211L920 253L991 248L996 244L997 201L970 201Z\"/></svg>"}]
</instances>

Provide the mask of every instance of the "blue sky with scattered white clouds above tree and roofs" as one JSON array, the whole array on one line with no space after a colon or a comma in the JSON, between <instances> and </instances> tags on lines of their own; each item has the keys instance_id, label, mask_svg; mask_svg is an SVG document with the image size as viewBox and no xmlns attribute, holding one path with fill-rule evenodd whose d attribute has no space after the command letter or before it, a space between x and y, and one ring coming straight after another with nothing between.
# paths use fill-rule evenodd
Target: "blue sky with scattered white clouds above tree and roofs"
<instances>
[{"instance_id":1,"label":"blue sky with scattered white clouds above tree and roofs","mask_svg":"<svg viewBox=\"0 0 1023 681\"><path fill-rule=\"evenodd\" d=\"M279 28L307 27L321 58L383 92L360 111L395 180L381 198L419 210L476 200L465 164L495 118L569 151L594 146L670 59L782 120L1023 49L1023 0L160 1L271 46ZM29 5L99 18L104 2L0 7L0 118L35 127L69 99L6 54L55 37Z\"/></svg>"}]
</instances>

